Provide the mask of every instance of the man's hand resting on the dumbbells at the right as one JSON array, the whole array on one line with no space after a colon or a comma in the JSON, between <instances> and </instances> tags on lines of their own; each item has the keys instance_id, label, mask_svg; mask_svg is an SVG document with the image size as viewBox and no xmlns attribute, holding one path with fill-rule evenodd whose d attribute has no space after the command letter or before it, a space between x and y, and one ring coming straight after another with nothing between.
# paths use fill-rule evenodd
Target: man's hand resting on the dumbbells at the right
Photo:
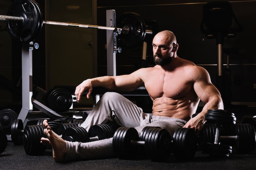
<instances>
[{"instance_id":1,"label":"man's hand resting on the dumbbells at the right","mask_svg":"<svg viewBox=\"0 0 256 170\"><path fill-rule=\"evenodd\" d=\"M204 127L204 114L199 113L194 118L191 118L184 126L183 128L192 128L195 130L196 135L199 135Z\"/></svg>"}]
</instances>

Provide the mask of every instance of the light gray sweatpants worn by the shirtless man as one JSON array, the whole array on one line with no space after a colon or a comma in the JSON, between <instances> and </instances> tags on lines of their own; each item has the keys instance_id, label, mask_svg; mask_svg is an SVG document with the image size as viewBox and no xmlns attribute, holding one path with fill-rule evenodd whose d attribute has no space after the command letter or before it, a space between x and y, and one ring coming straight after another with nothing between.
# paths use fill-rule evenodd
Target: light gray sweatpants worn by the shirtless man
<instances>
[{"instance_id":1,"label":"light gray sweatpants worn by the shirtless man","mask_svg":"<svg viewBox=\"0 0 256 170\"><path fill-rule=\"evenodd\" d=\"M176 129L182 128L186 124L186 121L182 119L161 116L151 117L150 114L144 113L141 108L124 96L115 92L107 92L101 97L101 100L92 109L81 126L89 131L90 127L95 124L104 124L110 121L115 121L119 126L135 127L139 134L145 126L159 126L173 135ZM66 141L67 153L65 160L114 157L112 139L87 143Z\"/></svg>"}]
</instances>

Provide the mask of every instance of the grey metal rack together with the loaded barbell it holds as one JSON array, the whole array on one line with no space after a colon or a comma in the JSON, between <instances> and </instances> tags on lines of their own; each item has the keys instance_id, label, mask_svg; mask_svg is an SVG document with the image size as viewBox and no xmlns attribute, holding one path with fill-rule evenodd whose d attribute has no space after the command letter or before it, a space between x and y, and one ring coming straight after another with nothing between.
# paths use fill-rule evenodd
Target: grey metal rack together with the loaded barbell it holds
<instances>
[{"instance_id":1,"label":"grey metal rack together with the loaded barbell it holds","mask_svg":"<svg viewBox=\"0 0 256 170\"><path fill-rule=\"evenodd\" d=\"M24 127L32 115L33 106L51 118L64 119L70 117L71 114L69 112L60 114L33 98L32 58L33 50L39 47L34 40L40 33L43 24L106 30L108 75L113 76L116 75L115 54L121 52L121 48L117 48L117 37L121 44L129 47L131 44L141 43L147 34L152 34L151 30L146 30L145 22L137 13L122 14L118 22L119 28L116 27L115 10L106 11L106 20L107 26L45 21L39 5L34 0L16 0L9 7L7 15L0 15L0 22L7 22L7 31L10 36L22 43L22 109L17 119L22 120ZM72 96L72 102L75 101L75 96ZM72 109L72 105L70 109ZM7 137L11 140L9 135Z\"/></svg>"}]
</instances>

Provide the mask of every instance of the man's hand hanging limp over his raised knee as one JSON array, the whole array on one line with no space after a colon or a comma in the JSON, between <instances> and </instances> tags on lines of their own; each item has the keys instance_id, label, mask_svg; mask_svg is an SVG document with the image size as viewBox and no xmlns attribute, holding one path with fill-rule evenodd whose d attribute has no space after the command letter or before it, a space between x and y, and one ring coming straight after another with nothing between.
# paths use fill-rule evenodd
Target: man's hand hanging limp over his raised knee
<instances>
[{"instance_id":1,"label":"man's hand hanging limp over his raised knee","mask_svg":"<svg viewBox=\"0 0 256 170\"><path fill-rule=\"evenodd\" d=\"M83 92L87 92L86 97L89 99L90 95L92 93L92 83L90 79L87 79L83 81L80 85L76 87L75 95L76 95L76 101L80 102Z\"/></svg>"}]
</instances>

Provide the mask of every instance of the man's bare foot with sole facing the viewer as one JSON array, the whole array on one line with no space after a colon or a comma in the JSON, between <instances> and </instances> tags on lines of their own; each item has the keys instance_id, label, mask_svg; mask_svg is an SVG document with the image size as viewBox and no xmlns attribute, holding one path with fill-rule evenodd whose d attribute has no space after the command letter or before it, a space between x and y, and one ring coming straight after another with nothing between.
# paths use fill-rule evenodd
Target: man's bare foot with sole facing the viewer
<instances>
[{"instance_id":1,"label":"man's bare foot with sole facing the viewer","mask_svg":"<svg viewBox=\"0 0 256 170\"><path fill-rule=\"evenodd\" d=\"M66 155L66 142L59 135L52 131L47 120L43 121L44 134L49 139L49 144L52 145L52 157L56 162L64 161ZM45 142L45 140L43 141Z\"/></svg>"}]
</instances>

